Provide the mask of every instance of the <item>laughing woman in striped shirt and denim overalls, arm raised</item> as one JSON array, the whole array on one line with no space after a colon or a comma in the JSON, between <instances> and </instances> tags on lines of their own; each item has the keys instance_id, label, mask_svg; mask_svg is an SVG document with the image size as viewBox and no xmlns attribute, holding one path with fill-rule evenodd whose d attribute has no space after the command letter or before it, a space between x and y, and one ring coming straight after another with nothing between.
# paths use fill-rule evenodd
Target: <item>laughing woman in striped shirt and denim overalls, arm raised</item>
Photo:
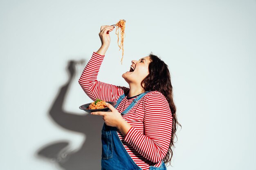
<instances>
[{"instance_id":1,"label":"laughing woman in striped shirt and denim overalls, arm raised","mask_svg":"<svg viewBox=\"0 0 256 170\"><path fill-rule=\"evenodd\" d=\"M97 81L115 26L101 26L101 47L93 52L79 84L92 99L117 102L103 117L102 170L166 170L171 162L177 117L167 65L157 56L132 60L122 75L130 88ZM179 124L180 125L180 124ZM171 155L171 157L170 157Z\"/></svg>"}]
</instances>

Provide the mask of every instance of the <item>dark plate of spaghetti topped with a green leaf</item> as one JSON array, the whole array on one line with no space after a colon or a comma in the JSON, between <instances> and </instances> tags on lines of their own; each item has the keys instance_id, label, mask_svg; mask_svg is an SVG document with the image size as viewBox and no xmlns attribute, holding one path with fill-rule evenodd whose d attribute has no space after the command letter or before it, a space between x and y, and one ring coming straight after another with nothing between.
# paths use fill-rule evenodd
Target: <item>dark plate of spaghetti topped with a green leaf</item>
<instances>
[{"instance_id":1,"label":"dark plate of spaghetti topped with a green leaf","mask_svg":"<svg viewBox=\"0 0 256 170\"><path fill-rule=\"evenodd\" d=\"M110 105L115 106L116 102L108 102ZM84 110L88 113L94 111L108 111L108 107L106 106L106 102L100 99L95 100L94 102L87 103L85 105L81 105L79 109Z\"/></svg>"}]
</instances>

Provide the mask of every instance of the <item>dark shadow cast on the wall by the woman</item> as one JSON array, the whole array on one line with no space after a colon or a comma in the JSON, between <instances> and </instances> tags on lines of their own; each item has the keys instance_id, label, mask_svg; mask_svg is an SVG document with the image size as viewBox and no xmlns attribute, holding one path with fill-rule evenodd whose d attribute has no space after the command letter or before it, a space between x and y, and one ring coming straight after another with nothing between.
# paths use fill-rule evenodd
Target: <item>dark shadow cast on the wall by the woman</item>
<instances>
[{"instance_id":1,"label":"dark shadow cast on the wall by the woman","mask_svg":"<svg viewBox=\"0 0 256 170\"><path fill-rule=\"evenodd\" d=\"M81 61L79 61L81 62ZM84 62L84 61L82 61ZM101 129L103 120L90 114L77 115L63 110L63 103L67 90L74 81L75 65L77 61L69 61L67 70L69 79L60 87L49 116L62 128L83 133L85 141L81 148L70 150L69 141L61 140L49 142L36 152L39 158L47 159L56 167L64 170L100 170L101 169ZM78 83L78 81L77 81Z\"/></svg>"}]
</instances>

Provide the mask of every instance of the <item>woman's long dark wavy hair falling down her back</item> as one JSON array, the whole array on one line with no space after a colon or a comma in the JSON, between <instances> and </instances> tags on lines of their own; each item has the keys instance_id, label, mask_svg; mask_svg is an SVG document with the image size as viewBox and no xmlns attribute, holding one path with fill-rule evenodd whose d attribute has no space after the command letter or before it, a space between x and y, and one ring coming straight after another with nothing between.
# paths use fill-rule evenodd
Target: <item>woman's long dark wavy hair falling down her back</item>
<instances>
[{"instance_id":1,"label":"woman's long dark wavy hair falling down her back","mask_svg":"<svg viewBox=\"0 0 256 170\"><path fill-rule=\"evenodd\" d=\"M177 126L180 125L180 123L177 121L176 106L173 101L173 86L171 85L171 76L168 65L166 65L164 61L159 59L159 57L157 57L156 55L152 54L152 52L149 54L149 57L151 61L148 65L149 74L141 82L141 85L142 87L144 87L145 91L150 90L161 92L169 103L173 116L173 127L171 132L171 143L163 161L164 163L170 163L171 165L171 159L173 157L172 147L175 148L174 143L177 142L174 142L173 139L174 136L177 139L177 135L175 134L175 132L177 130Z\"/></svg>"}]
</instances>

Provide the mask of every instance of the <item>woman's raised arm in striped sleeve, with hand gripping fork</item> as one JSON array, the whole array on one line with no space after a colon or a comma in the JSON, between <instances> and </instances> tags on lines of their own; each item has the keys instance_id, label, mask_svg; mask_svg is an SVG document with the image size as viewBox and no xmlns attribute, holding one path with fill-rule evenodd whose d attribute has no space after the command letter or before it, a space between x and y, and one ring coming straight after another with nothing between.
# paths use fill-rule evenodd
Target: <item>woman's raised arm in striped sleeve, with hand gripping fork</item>
<instances>
[{"instance_id":1,"label":"woman's raised arm in striped sleeve, with hand gripping fork","mask_svg":"<svg viewBox=\"0 0 256 170\"><path fill-rule=\"evenodd\" d=\"M129 89L97 81L99 68L105 57L105 52L110 44L110 36L108 31L112 31L113 26L101 26L99 37L101 39L101 48L97 52L93 52L92 58L85 66L79 84L83 91L92 99L99 98L105 101L115 102L117 98Z\"/></svg>"}]
</instances>

